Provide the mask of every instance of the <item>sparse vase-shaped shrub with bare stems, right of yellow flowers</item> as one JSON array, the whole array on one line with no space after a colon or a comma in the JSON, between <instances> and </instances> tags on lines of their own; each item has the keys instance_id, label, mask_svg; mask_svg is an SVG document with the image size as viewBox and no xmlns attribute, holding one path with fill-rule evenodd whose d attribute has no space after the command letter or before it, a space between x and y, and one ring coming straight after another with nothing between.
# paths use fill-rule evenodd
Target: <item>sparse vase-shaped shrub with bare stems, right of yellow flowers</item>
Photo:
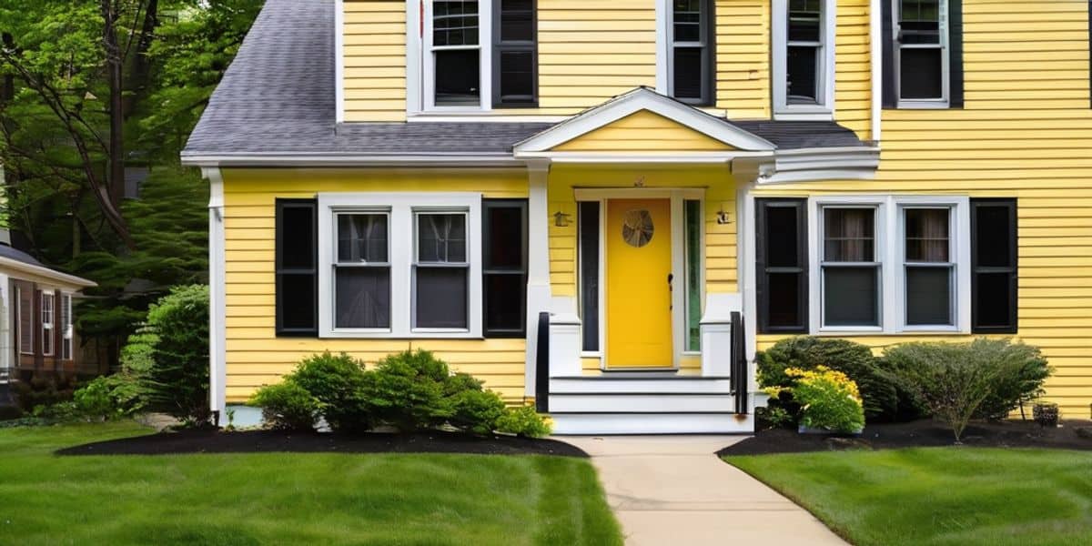
<instances>
[{"instance_id":1,"label":"sparse vase-shaped shrub with bare stems, right of yellow flowers","mask_svg":"<svg viewBox=\"0 0 1092 546\"><path fill-rule=\"evenodd\" d=\"M1002 341L1008 343L1007 341ZM1021 360L998 360L995 341L905 343L883 355L889 377L903 385L929 413L946 423L960 441L968 423L995 394L998 379L1013 373Z\"/></svg>"}]
</instances>

